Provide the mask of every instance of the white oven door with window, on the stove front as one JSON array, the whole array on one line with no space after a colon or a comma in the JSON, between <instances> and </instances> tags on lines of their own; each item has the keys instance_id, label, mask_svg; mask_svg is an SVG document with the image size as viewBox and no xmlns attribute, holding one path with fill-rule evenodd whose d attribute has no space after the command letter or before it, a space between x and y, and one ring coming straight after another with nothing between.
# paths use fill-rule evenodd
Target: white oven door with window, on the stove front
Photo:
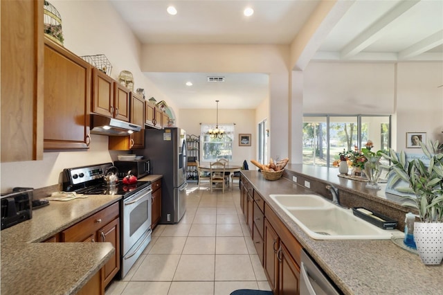
<instances>
[{"instance_id":1,"label":"white oven door with window, on the stove front","mask_svg":"<svg viewBox=\"0 0 443 295\"><path fill-rule=\"evenodd\" d=\"M151 227L152 188L123 199L123 256Z\"/></svg>"}]
</instances>

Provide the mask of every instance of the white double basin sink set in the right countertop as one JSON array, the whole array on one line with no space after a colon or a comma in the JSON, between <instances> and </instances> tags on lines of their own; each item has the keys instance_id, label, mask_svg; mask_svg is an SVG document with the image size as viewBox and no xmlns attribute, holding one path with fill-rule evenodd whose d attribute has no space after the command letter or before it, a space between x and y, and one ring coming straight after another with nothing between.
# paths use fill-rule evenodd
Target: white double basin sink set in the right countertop
<instances>
[{"instance_id":1,"label":"white double basin sink set in the right countertop","mask_svg":"<svg viewBox=\"0 0 443 295\"><path fill-rule=\"evenodd\" d=\"M388 240L399 231L380 229L319 195L270 195L315 240Z\"/></svg>"}]
</instances>

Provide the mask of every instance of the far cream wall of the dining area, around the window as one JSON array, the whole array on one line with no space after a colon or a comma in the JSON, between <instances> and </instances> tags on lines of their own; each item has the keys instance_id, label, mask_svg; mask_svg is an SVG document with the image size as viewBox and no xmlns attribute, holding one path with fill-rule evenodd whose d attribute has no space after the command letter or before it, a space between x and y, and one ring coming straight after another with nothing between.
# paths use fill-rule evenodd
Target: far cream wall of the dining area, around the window
<instances>
[{"instance_id":1,"label":"far cream wall of the dining area, around the window","mask_svg":"<svg viewBox=\"0 0 443 295\"><path fill-rule=\"evenodd\" d=\"M187 134L200 135L200 123L215 124L215 109L180 109L181 128ZM233 142L233 159L230 163L242 164L244 160L256 159L257 127L255 125L255 110L253 109L219 109L219 125L235 123ZM251 134L252 144L249 147L238 145L238 134ZM255 144L254 144L255 143ZM200 152L201 157L201 152ZM204 161L201 161L204 163Z\"/></svg>"}]
</instances>

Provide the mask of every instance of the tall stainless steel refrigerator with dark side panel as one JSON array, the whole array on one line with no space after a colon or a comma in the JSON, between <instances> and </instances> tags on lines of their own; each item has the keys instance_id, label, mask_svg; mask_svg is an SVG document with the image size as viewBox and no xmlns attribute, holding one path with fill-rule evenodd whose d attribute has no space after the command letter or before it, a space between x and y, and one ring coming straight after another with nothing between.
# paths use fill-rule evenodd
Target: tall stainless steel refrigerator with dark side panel
<instances>
[{"instance_id":1,"label":"tall stainless steel refrigerator with dark side panel","mask_svg":"<svg viewBox=\"0 0 443 295\"><path fill-rule=\"evenodd\" d=\"M151 174L161 181L161 224L174 224L186 212L186 131L177 127L145 129L143 156L150 160Z\"/></svg>"}]
</instances>

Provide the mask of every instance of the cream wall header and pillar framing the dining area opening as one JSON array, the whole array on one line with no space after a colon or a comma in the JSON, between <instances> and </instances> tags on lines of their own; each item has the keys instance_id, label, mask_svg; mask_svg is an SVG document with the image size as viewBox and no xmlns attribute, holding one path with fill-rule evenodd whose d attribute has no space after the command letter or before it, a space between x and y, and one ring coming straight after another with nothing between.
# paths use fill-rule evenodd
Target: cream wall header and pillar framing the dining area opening
<instances>
[{"instance_id":1,"label":"cream wall header and pillar framing the dining area opening","mask_svg":"<svg viewBox=\"0 0 443 295\"><path fill-rule=\"evenodd\" d=\"M271 153L289 154L289 46L242 44L145 44L141 69L166 73L268 73ZM182 112L180 111L182 114ZM188 118L181 115L178 123ZM246 132L250 133L250 132ZM253 139L254 141L254 139Z\"/></svg>"}]
</instances>

